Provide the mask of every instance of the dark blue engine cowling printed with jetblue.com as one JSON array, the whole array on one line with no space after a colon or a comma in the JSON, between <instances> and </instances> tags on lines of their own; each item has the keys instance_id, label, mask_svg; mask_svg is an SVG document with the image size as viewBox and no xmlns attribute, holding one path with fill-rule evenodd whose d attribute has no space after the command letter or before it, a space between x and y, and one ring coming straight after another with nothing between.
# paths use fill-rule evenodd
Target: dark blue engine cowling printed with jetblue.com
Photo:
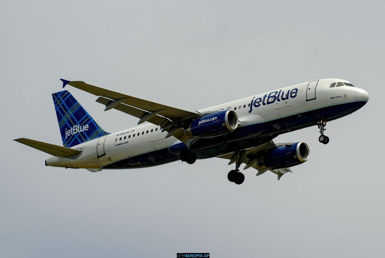
<instances>
[{"instance_id":1,"label":"dark blue engine cowling printed with jetblue.com","mask_svg":"<svg viewBox=\"0 0 385 258\"><path fill-rule=\"evenodd\" d=\"M189 138L207 138L229 133L237 127L237 114L233 110L223 110L195 120L185 129L185 134Z\"/></svg>"}]
</instances>

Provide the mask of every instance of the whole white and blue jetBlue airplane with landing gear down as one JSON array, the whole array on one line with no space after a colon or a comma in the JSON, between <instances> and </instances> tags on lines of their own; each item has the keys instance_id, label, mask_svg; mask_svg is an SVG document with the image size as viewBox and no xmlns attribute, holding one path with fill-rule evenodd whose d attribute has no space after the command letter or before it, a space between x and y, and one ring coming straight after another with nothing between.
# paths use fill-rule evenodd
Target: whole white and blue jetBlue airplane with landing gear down
<instances>
[{"instance_id":1,"label":"whole white and blue jetBlue airplane with landing gear down","mask_svg":"<svg viewBox=\"0 0 385 258\"><path fill-rule=\"evenodd\" d=\"M138 126L108 133L67 90L52 94L63 146L27 138L20 143L51 154L46 166L102 169L141 168L181 160L218 157L235 163L228 180L242 184L240 172L278 176L309 159L304 142L275 143L280 134L317 125L327 144L326 123L363 107L368 93L341 79L320 79L193 111L114 92L82 81L61 79L97 96L104 111L116 109L139 119ZM145 123L146 122L146 123ZM144 124L143 124L144 123Z\"/></svg>"}]
</instances>

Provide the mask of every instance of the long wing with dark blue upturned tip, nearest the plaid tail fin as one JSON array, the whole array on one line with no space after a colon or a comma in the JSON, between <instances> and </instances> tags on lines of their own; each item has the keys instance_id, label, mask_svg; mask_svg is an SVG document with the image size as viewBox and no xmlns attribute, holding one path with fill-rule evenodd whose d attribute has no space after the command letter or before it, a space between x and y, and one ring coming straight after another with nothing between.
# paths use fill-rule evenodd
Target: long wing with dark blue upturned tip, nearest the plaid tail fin
<instances>
[{"instance_id":1,"label":"long wing with dark blue upturned tip, nearest the plaid tail fin","mask_svg":"<svg viewBox=\"0 0 385 258\"><path fill-rule=\"evenodd\" d=\"M159 125L163 131L168 132L166 137L173 135L184 143L187 140L181 128L184 125L183 121L187 121L199 115L196 111L184 110L137 98L131 95L100 88L85 82L60 80L63 82L63 88L66 85L71 85L72 87L99 96L96 102L105 105L105 111L117 109L139 118L138 124L147 121Z\"/></svg>"}]
</instances>

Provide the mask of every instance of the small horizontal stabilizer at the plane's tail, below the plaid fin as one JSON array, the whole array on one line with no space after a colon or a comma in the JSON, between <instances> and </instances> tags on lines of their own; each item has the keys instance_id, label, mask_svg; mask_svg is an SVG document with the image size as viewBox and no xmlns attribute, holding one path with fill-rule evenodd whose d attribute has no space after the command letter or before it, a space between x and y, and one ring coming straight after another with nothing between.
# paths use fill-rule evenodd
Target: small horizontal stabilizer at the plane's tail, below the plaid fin
<instances>
[{"instance_id":1,"label":"small horizontal stabilizer at the plane's tail, below the plaid fin","mask_svg":"<svg viewBox=\"0 0 385 258\"><path fill-rule=\"evenodd\" d=\"M66 148L66 147L62 147L62 146L58 146L50 143L27 139L27 138L19 138L19 139L15 139L14 141L23 143L27 146L30 146L37 150L51 154L55 157L69 157L82 152L81 150L74 150L74 149L70 149L70 148Z\"/></svg>"}]
</instances>

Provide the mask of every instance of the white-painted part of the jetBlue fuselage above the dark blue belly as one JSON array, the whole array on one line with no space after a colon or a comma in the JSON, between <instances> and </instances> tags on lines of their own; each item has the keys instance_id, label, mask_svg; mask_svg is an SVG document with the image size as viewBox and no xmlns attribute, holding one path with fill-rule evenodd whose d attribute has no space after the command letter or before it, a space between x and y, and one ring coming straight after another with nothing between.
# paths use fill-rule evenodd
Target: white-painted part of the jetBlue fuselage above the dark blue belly
<instances>
[{"instance_id":1,"label":"white-painted part of the jetBlue fuselage above the dark blue belly","mask_svg":"<svg viewBox=\"0 0 385 258\"><path fill-rule=\"evenodd\" d=\"M349 86L330 88L330 84L333 82L347 81L340 79L322 79L315 81L315 83L301 83L205 108L199 110L199 112L215 112L226 109L234 110L238 115L240 126L234 132L231 132L231 134L233 138L237 139L237 131L242 131L242 127L266 124L270 121L278 121L279 119L289 117L292 119L296 118L299 121L303 119L303 124L293 128L287 127L287 130L284 131L282 131L281 124L274 124L274 130L277 130L277 134L285 133L315 124L314 121L305 120L306 115L302 116L302 114L310 114L309 112L313 111L326 112L330 107L341 107L338 109L338 115L329 119L333 120L359 108L352 110L351 105L349 105L346 107L346 111L341 111L344 107L343 104L356 102L366 103L368 100L368 94L364 90ZM255 134L250 135L250 137L255 138L258 137L258 135L275 133L271 129L269 130L267 132L256 131ZM46 160L46 164L58 167L99 169L114 162L143 154L147 154L147 158L151 160L152 152L166 149L178 141L173 136L165 138L166 134L167 132L161 132L159 126L144 124L74 146L73 149L81 150L82 152L70 158L57 158L52 156ZM245 137L247 138L248 136L240 135L239 137L245 139ZM175 160L176 159L177 156Z\"/></svg>"}]
</instances>

